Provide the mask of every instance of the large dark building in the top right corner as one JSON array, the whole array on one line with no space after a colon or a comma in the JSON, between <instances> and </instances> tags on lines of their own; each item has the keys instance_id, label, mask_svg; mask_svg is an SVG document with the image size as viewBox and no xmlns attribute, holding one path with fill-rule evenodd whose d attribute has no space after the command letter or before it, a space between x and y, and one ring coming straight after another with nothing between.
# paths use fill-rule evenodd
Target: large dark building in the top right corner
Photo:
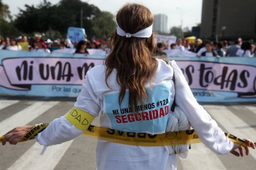
<instances>
[{"instance_id":1,"label":"large dark building in the top right corner","mask_svg":"<svg viewBox=\"0 0 256 170\"><path fill-rule=\"evenodd\" d=\"M256 0L203 0L202 39L256 39Z\"/></svg>"}]
</instances>

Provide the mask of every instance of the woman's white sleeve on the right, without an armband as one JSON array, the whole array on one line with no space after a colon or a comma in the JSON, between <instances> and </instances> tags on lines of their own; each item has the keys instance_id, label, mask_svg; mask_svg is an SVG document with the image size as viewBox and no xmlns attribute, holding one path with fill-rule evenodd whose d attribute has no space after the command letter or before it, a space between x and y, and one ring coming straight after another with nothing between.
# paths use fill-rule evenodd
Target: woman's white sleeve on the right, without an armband
<instances>
[{"instance_id":1,"label":"woman's white sleeve on the right, without an armband","mask_svg":"<svg viewBox=\"0 0 256 170\"><path fill-rule=\"evenodd\" d=\"M217 154L229 153L234 143L224 135L207 111L197 103L176 62L172 61L171 64L175 75L174 89L177 106L185 112L189 123L206 147Z\"/></svg>"}]
</instances>

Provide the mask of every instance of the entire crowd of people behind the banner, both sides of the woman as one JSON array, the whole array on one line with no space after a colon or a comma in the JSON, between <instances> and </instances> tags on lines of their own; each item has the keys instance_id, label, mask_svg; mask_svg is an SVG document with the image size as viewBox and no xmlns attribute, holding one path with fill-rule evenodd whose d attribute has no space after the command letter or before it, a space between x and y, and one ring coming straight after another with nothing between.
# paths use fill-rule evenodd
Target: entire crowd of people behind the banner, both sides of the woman
<instances>
[{"instance_id":1,"label":"entire crowd of people behind the banner, both sides of the woman","mask_svg":"<svg viewBox=\"0 0 256 170\"><path fill-rule=\"evenodd\" d=\"M176 43L168 47L164 43L157 44L156 56L167 56L166 50L180 49L182 51L190 51L196 53L197 57L254 57L256 56L256 43L253 40L243 41L238 38L235 41L202 41L195 39L193 43L187 40L178 39ZM0 50L12 51L36 51L36 52L52 52L64 48L75 48L75 53L88 55L87 49L108 49L108 41L105 39L99 40L81 40L79 42L71 42L67 39L50 39L43 40L41 38L27 38L26 35L18 38L5 37L0 38Z\"/></svg>"}]
</instances>

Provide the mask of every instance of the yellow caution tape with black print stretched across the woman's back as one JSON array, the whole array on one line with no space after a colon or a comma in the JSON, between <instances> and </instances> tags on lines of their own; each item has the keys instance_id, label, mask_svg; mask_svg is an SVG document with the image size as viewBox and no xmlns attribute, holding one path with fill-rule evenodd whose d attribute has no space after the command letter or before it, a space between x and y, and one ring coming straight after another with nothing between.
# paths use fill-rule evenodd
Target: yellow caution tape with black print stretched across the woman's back
<instances>
[{"instance_id":1,"label":"yellow caution tape with black print stretched across the woman's back","mask_svg":"<svg viewBox=\"0 0 256 170\"><path fill-rule=\"evenodd\" d=\"M35 135L40 133L48 126L48 123L41 123L35 125L20 142L24 142L30 139L34 139ZM201 143L201 140L197 136L195 130L186 130L178 132L169 132L164 134L151 135L147 133L134 133L125 132L113 129L107 129L104 127L90 125L87 131L83 133L90 137L101 139L108 142L120 143L124 145L135 146L170 146L170 145L184 145ZM234 135L225 133L226 137L231 141L238 143L242 146L248 146L247 143L235 137ZM0 137L0 143L4 137ZM256 143L254 143L256 145ZM251 147L251 146L248 146Z\"/></svg>"}]
</instances>

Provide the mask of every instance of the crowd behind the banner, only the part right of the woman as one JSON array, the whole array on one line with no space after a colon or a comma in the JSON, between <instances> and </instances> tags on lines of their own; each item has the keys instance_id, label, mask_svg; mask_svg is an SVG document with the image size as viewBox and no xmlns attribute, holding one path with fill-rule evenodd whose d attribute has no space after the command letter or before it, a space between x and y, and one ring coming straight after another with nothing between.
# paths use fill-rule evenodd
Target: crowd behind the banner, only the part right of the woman
<instances>
[{"instance_id":1,"label":"crowd behind the banner, only the part right of the woman","mask_svg":"<svg viewBox=\"0 0 256 170\"><path fill-rule=\"evenodd\" d=\"M241 38L235 41L223 40L221 42L203 42L201 39L195 39L194 43L178 39L176 44L170 45L170 51L174 49L187 50L196 53L197 57L254 57L256 56L255 47L256 43L253 40L243 41ZM164 43L158 43L156 55L165 56L168 48Z\"/></svg>"}]
</instances>

